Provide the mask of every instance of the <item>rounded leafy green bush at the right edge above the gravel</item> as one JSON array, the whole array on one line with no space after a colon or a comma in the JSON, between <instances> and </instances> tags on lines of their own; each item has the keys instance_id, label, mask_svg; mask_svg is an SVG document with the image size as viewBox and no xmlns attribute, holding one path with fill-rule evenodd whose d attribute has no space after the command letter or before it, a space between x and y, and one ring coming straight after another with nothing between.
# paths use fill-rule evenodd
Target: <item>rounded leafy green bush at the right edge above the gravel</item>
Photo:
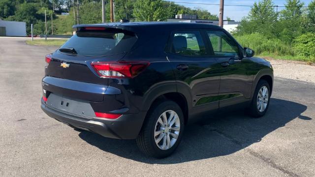
<instances>
[{"instance_id":1,"label":"rounded leafy green bush at the right edge above the gravel","mask_svg":"<svg viewBox=\"0 0 315 177\"><path fill-rule=\"evenodd\" d=\"M315 33L306 33L294 40L294 46L301 56L315 60Z\"/></svg>"}]
</instances>

